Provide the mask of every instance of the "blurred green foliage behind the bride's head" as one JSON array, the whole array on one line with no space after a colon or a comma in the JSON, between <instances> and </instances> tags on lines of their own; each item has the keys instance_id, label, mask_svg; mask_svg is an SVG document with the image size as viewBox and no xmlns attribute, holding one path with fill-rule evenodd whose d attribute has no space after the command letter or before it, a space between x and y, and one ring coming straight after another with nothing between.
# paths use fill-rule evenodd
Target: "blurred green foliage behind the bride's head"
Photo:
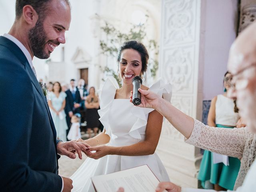
<instances>
[{"instance_id":1,"label":"blurred green foliage behind the bride's head","mask_svg":"<svg viewBox=\"0 0 256 192\"><path fill-rule=\"evenodd\" d=\"M146 17L148 20L147 15L146 15ZM108 22L105 21L105 25L103 27L101 27L101 29L103 30L103 32L106 35L106 40L100 40L101 53L106 56L116 58L117 53L118 53L118 48L123 44L123 42L128 41L128 40L138 40L146 46L146 48L150 54L154 54L155 58L157 58L157 55L158 55L157 42L152 39L151 40L146 39L146 26L145 25L147 23L147 20L146 20L145 24L131 25L130 30L126 30L126 31L128 31L127 33L117 30L114 26L112 26L111 24L109 24ZM150 58L148 60L148 68L150 68L152 76L153 77L156 76L156 71L158 70L158 60ZM108 68L107 66L101 67L101 70L103 72L107 72L108 74L114 76L116 78L116 80L119 82L118 75L114 70Z\"/></svg>"}]
</instances>

